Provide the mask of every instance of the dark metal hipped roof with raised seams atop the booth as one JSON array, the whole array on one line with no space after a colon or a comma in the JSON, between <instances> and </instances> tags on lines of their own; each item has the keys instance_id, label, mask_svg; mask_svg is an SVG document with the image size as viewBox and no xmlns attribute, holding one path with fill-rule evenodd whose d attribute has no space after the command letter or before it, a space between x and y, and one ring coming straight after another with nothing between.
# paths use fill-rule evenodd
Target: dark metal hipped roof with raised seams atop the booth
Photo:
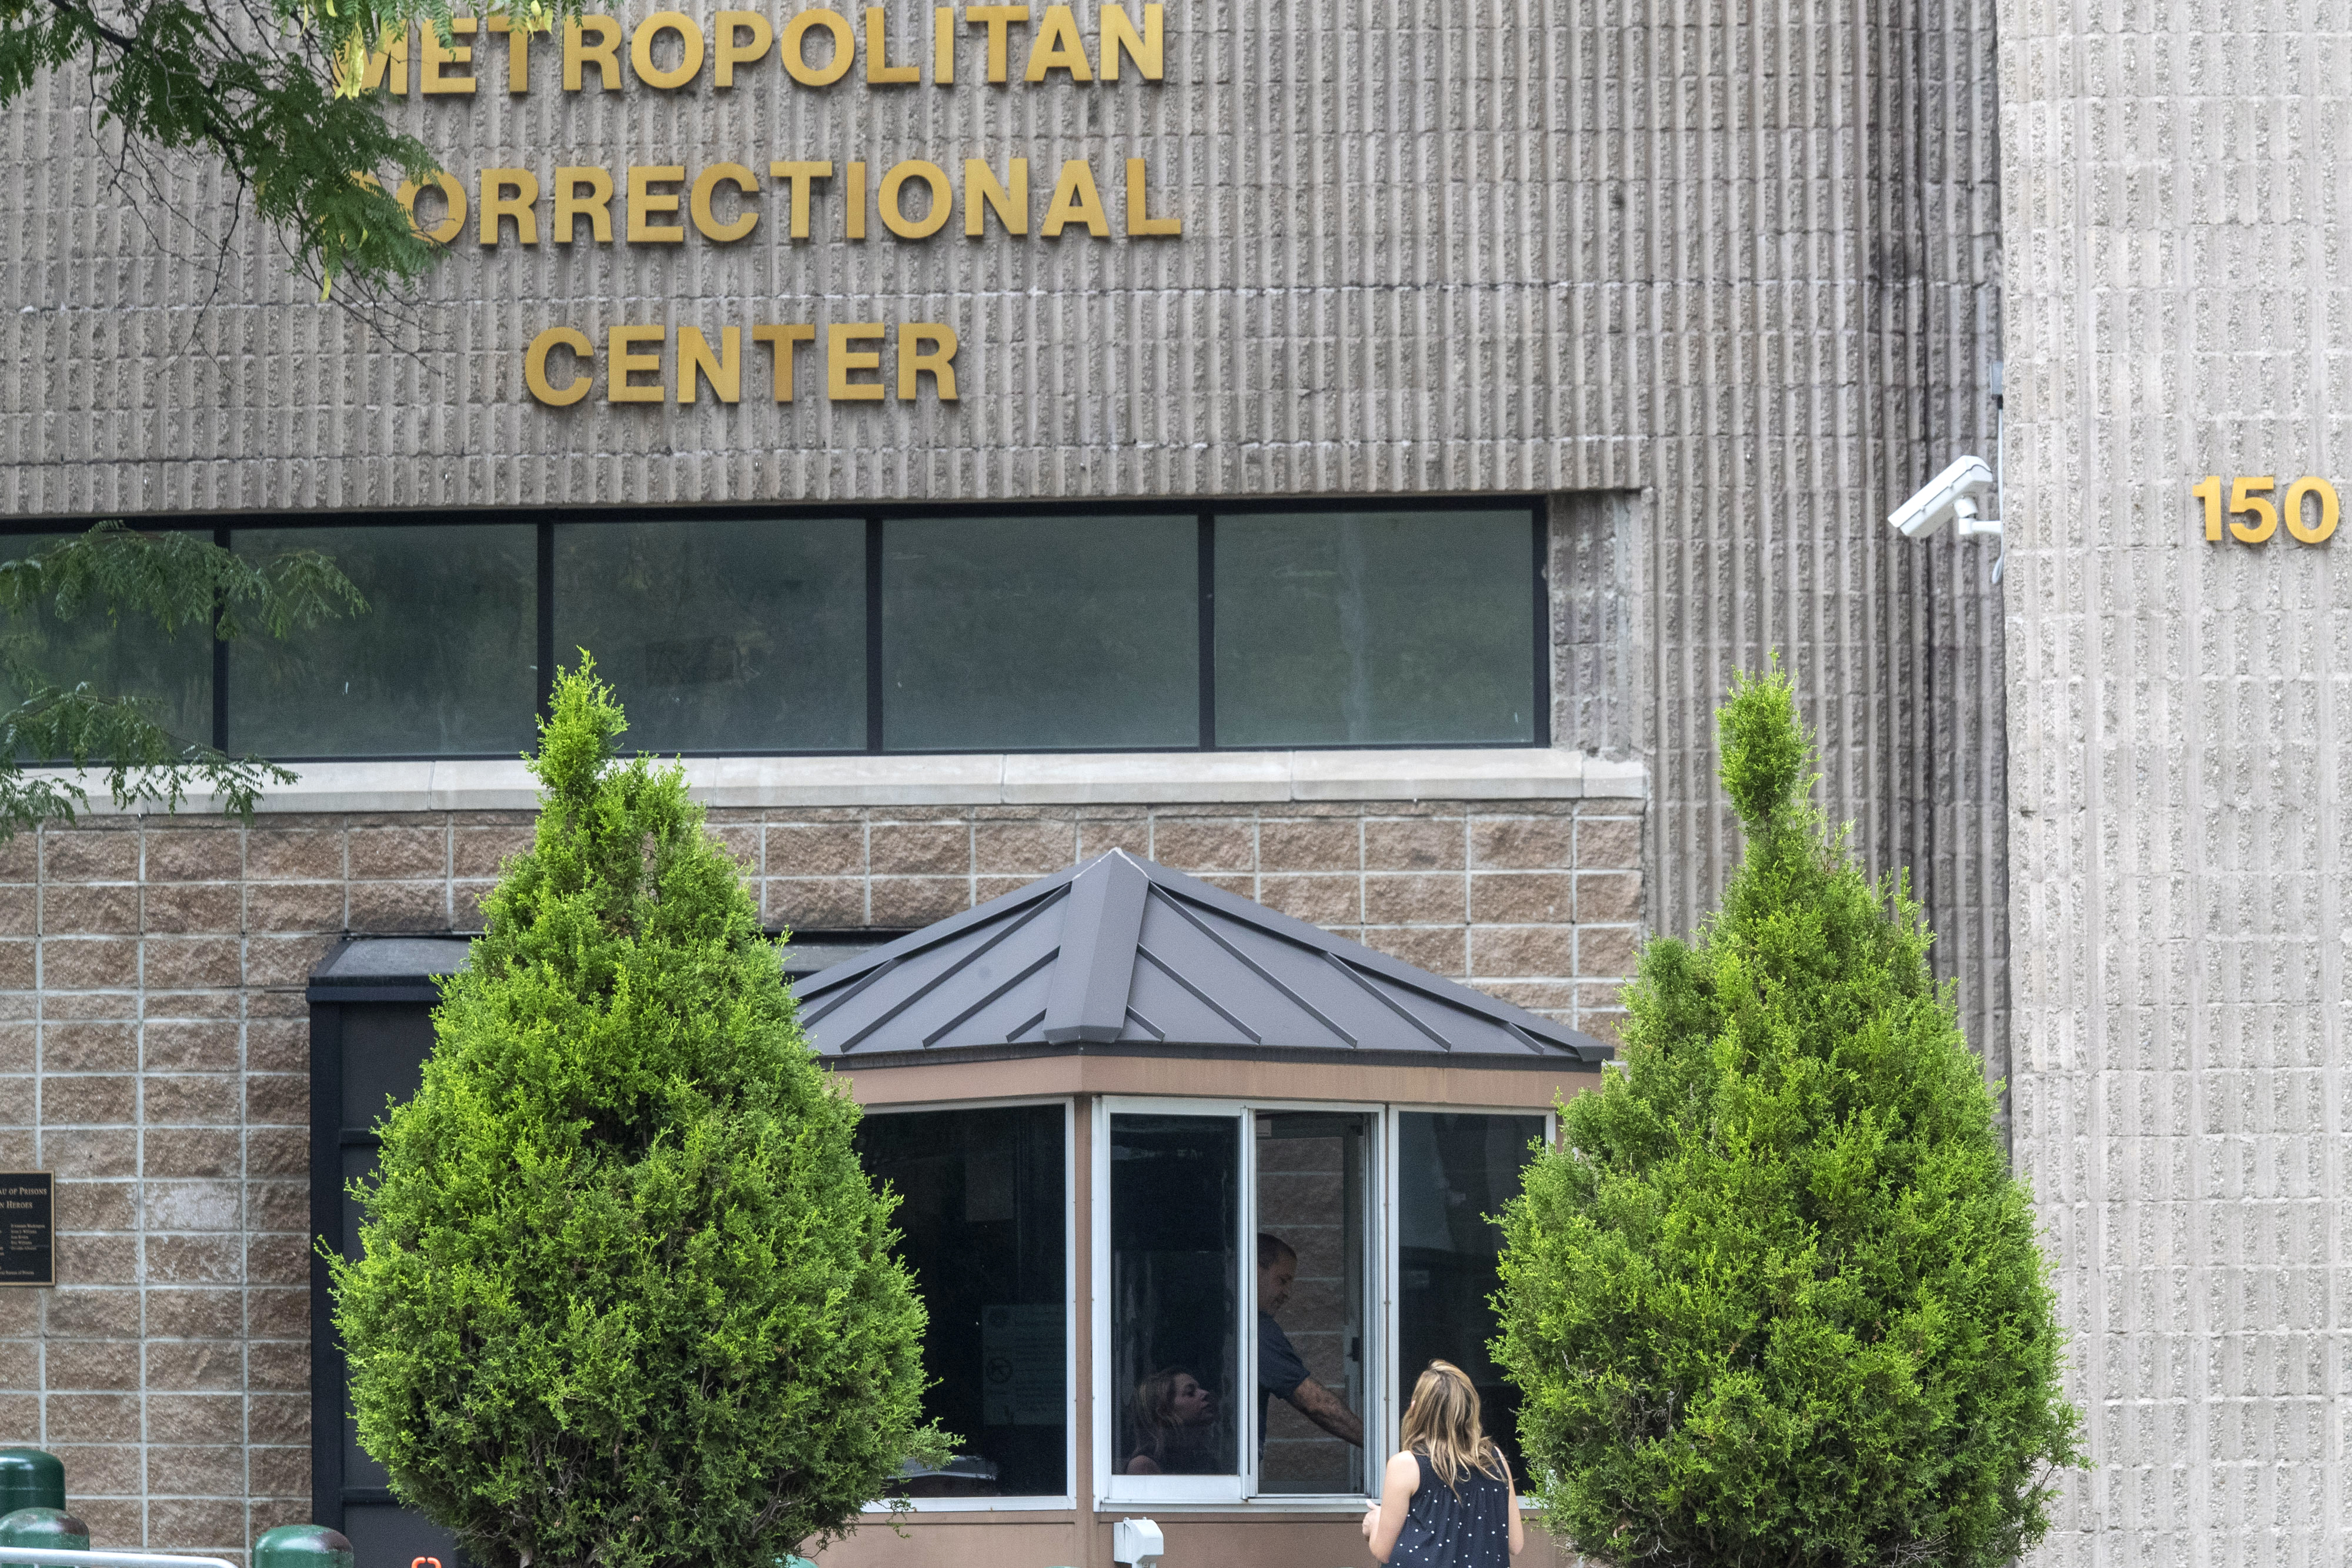
<instances>
[{"instance_id":1,"label":"dark metal hipped roof with raised seams atop the booth","mask_svg":"<svg viewBox=\"0 0 2352 1568\"><path fill-rule=\"evenodd\" d=\"M1609 1058L1590 1034L1117 849L795 990L802 1027L835 1060L1348 1053L1557 1070Z\"/></svg>"}]
</instances>

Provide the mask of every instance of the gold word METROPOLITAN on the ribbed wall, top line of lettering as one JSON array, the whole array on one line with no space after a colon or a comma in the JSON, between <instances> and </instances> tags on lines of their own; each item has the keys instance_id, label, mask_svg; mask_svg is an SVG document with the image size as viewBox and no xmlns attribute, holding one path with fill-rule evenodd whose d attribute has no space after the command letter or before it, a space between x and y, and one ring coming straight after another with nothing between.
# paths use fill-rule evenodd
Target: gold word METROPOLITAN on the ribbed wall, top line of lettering
<instances>
[{"instance_id":1,"label":"gold word METROPOLITAN on the ribbed wall, top line of lettering","mask_svg":"<svg viewBox=\"0 0 2352 1568\"><path fill-rule=\"evenodd\" d=\"M564 21L562 40L541 40L553 47L532 49L532 31L515 26L510 16L452 16L449 35L428 21L416 28L416 73L412 92L409 33L393 33L386 47L367 56L365 87L390 89L393 96L473 96L482 78L475 75L473 42L482 28L506 35L506 92L527 94L532 68L560 47L564 92L583 92L588 73L597 87L621 92L621 59L626 47L628 75L661 92L680 92L699 85L706 75L713 89L731 89L750 73L767 68L774 56L800 87L833 87L847 80L863 59L863 85L868 87L953 87L960 47L971 40L981 47L988 80L995 85L1042 82L1117 82L1120 66L1131 63L1134 78L1160 82L1167 59L1167 24L1162 7L1145 5L1143 21L1129 16L1124 5L1105 5L1089 35L1080 28L1068 5L1047 5L1030 21L1025 5L941 5L931 9L931 47L915 59L896 59L901 45L891 42L887 7L868 5L863 28L851 28L849 16L835 9L804 9L776 28L767 12L717 12L706 31L684 12L654 12L633 31L623 31L614 16L576 16ZM1023 38L1014 38L1021 31ZM626 40L626 45L623 45ZM1021 47L1025 42L1025 49ZM1091 54L1089 54L1089 42ZM1014 66L1014 54L1023 63ZM485 61L487 63L487 61Z\"/></svg>"}]
</instances>

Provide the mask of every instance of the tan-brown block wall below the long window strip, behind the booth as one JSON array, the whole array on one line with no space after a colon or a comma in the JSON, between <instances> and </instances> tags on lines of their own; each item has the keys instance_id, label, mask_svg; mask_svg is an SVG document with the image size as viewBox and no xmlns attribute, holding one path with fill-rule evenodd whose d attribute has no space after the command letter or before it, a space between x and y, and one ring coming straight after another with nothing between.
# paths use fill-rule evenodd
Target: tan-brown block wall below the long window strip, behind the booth
<instances>
[{"instance_id":1,"label":"tan-brown block wall below the long window strip, behind the booth","mask_svg":"<svg viewBox=\"0 0 2352 1568\"><path fill-rule=\"evenodd\" d=\"M1639 802L715 811L771 924L915 926L1124 846L1611 1034ZM94 818L0 846L0 1168L59 1178L0 1291L0 1443L99 1547L310 1512L308 1004L343 931L470 931L520 813Z\"/></svg>"}]
</instances>

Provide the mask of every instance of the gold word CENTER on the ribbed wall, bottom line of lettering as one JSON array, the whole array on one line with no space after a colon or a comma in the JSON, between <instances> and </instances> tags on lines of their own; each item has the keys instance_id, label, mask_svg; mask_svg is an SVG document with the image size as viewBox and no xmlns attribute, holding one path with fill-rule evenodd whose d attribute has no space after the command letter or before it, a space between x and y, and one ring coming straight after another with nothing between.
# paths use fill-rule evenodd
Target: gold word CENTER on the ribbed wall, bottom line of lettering
<instances>
[{"instance_id":1,"label":"gold word CENTER on the ribbed wall, bottom line of lettering","mask_svg":"<svg viewBox=\"0 0 2352 1568\"><path fill-rule=\"evenodd\" d=\"M830 402L882 402L889 381L882 369L887 322L828 322L823 336L826 397ZM776 402L793 402L800 350L816 343L811 322L757 324L750 341L767 348L769 386ZM717 348L701 327L659 324L604 329L604 402L694 402L703 386L720 402L743 400L743 329L724 327ZM922 376L941 402L955 402L955 329L943 322L901 322L891 346L898 402L915 402ZM562 357L557 357L562 355ZM673 374L675 371L675 374ZM555 376L564 376L562 383ZM652 376L652 381L640 381ZM870 376L870 381L868 381ZM522 350L522 383L532 397L562 409L595 386L595 343L576 327L548 327Z\"/></svg>"}]
</instances>

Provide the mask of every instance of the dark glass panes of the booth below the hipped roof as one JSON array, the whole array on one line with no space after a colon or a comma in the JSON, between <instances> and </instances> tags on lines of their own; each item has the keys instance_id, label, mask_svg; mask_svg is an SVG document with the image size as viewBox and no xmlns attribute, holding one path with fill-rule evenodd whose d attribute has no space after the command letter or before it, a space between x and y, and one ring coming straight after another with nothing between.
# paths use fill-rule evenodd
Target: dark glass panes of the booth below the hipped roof
<instances>
[{"instance_id":1,"label":"dark glass panes of the booth below the hipped roof","mask_svg":"<svg viewBox=\"0 0 2352 1568\"><path fill-rule=\"evenodd\" d=\"M1390 1246L1397 1345L1388 1356L1402 1387L1430 1359L1456 1361L1479 1387L1486 1432L1517 1462L1517 1392L1486 1349L1503 1241L1486 1215L1517 1197L1541 1135L1543 1117L1402 1112L1397 1208L1383 1213L1371 1201L1371 1107L1110 1117L1110 1340L1094 1354L1110 1359L1112 1472L1247 1469L1258 1495L1378 1490L1388 1436L1355 1448L1270 1399L1265 1340L1279 1338L1296 1356L1282 1382L1303 1366L1367 1413L1381 1373L1371 1267ZM1242 1138L1256 1143L1256 1182L1242 1178ZM1063 1107L868 1112L858 1147L868 1173L901 1197L898 1251L929 1309L924 1415L962 1439L953 1465L910 1474L906 1490L1068 1493ZM1263 1251L1244 1248L1240 1234L1284 1248L1282 1300L1265 1293ZM1251 1312L1263 1314L1256 1366L1242 1356ZM1204 1394L1190 1410L1197 1420L1160 1408L1162 1385L1176 1378Z\"/></svg>"}]
</instances>

